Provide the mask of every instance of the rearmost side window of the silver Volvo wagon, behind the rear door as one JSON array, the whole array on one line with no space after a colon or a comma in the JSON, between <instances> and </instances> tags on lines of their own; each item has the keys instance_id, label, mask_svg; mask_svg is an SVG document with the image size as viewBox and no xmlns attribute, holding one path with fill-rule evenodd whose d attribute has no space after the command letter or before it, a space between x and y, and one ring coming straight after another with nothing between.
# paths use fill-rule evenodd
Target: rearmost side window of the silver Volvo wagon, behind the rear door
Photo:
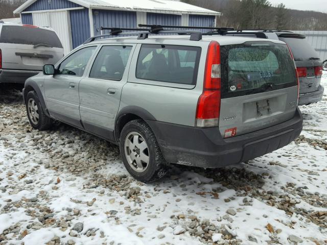
<instances>
[{"instance_id":1,"label":"rearmost side window of the silver Volvo wagon, behind the rear door","mask_svg":"<svg viewBox=\"0 0 327 245\"><path fill-rule=\"evenodd\" d=\"M195 85L200 47L143 44L139 52L136 78Z\"/></svg>"}]
</instances>

